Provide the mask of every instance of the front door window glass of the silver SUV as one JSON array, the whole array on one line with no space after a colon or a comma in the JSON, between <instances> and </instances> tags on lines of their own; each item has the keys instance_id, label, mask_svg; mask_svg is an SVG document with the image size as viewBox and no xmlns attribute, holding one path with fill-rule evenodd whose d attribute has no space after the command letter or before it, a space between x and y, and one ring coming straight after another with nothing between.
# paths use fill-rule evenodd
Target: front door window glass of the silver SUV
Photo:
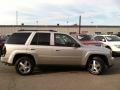
<instances>
[{"instance_id":1,"label":"front door window glass of the silver SUV","mask_svg":"<svg viewBox=\"0 0 120 90\"><path fill-rule=\"evenodd\" d=\"M55 34L55 46L67 46L73 47L76 44L76 41L70 36L65 34Z\"/></svg>"}]
</instances>

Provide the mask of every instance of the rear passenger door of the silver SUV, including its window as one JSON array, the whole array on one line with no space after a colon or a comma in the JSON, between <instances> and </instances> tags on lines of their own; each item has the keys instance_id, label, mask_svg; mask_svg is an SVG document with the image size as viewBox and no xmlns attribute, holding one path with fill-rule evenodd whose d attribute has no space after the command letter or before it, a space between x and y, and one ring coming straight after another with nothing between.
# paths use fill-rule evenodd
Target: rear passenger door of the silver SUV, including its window
<instances>
[{"instance_id":1,"label":"rear passenger door of the silver SUV, including its window","mask_svg":"<svg viewBox=\"0 0 120 90\"><path fill-rule=\"evenodd\" d=\"M35 54L37 64L51 63L50 33L36 33L29 48Z\"/></svg>"}]
</instances>

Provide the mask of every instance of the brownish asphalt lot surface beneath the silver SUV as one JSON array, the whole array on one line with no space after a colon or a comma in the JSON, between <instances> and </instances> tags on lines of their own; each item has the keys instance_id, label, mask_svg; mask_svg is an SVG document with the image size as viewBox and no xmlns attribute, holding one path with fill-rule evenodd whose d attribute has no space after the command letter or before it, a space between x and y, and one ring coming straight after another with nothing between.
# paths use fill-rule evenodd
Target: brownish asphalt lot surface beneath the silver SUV
<instances>
[{"instance_id":1,"label":"brownish asphalt lot surface beneath the silver SUV","mask_svg":"<svg viewBox=\"0 0 120 90\"><path fill-rule=\"evenodd\" d=\"M120 58L104 75L91 75L80 67L37 67L20 76L0 62L0 90L120 90Z\"/></svg>"}]
</instances>

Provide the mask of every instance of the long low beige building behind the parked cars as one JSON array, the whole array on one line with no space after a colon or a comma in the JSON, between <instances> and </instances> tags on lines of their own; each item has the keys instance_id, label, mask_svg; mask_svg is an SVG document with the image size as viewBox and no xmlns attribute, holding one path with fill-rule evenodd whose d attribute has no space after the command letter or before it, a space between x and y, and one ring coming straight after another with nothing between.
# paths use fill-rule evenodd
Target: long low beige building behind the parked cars
<instances>
[{"instance_id":1,"label":"long low beige building behind the parked cars","mask_svg":"<svg viewBox=\"0 0 120 90\"><path fill-rule=\"evenodd\" d=\"M120 26L88 26L80 27L82 34L118 34ZM0 25L0 35L10 35L18 30L56 30L64 33L79 33L78 25Z\"/></svg>"}]
</instances>

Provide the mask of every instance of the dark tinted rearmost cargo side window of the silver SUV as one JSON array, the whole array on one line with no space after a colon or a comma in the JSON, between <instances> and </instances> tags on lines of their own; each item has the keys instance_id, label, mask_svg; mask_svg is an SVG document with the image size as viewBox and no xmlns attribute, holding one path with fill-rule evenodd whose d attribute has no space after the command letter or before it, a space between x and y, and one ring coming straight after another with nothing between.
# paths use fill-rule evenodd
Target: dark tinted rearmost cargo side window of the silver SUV
<instances>
[{"instance_id":1,"label":"dark tinted rearmost cargo side window of the silver SUV","mask_svg":"<svg viewBox=\"0 0 120 90\"><path fill-rule=\"evenodd\" d=\"M14 33L7 40L7 44L25 44L30 33Z\"/></svg>"}]
</instances>

